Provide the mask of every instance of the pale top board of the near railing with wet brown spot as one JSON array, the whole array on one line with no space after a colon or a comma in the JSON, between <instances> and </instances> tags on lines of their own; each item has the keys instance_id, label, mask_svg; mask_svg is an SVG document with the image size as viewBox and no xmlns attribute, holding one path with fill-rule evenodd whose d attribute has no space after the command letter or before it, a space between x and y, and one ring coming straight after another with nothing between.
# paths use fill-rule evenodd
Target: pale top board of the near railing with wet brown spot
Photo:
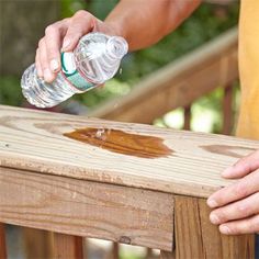
<instances>
[{"instance_id":1,"label":"pale top board of the near railing with wet brown spot","mask_svg":"<svg viewBox=\"0 0 259 259\"><path fill-rule=\"evenodd\" d=\"M63 135L86 127L104 135L86 136L91 144ZM121 135L110 139L114 130ZM207 198L232 182L221 171L257 148L222 135L0 106L0 166L38 173Z\"/></svg>"}]
</instances>

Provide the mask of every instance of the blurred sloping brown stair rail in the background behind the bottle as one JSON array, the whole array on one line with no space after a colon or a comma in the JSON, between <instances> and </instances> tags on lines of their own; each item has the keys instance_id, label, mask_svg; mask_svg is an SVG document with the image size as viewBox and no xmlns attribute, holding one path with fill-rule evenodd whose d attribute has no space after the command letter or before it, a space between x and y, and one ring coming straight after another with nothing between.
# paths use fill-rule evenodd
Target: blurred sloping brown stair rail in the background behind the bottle
<instances>
[{"instance_id":1,"label":"blurred sloping brown stair rail in the background behind the bottle","mask_svg":"<svg viewBox=\"0 0 259 259\"><path fill-rule=\"evenodd\" d=\"M148 123L179 106L188 106L217 87L236 80L237 29L151 72L131 93L88 113L114 121Z\"/></svg>"}]
</instances>

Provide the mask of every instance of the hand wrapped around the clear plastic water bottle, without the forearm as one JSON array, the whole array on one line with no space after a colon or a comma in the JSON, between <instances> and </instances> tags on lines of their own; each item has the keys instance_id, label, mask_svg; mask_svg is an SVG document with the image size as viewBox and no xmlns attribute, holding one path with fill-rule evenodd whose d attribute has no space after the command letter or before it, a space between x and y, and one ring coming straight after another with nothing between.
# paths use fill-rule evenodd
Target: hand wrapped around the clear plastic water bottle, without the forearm
<instances>
[{"instance_id":1,"label":"hand wrapped around the clear plastic water bottle, without the forearm","mask_svg":"<svg viewBox=\"0 0 259 259\"><path fill-rule=\"evenodd\" d=\"M74 50L80 37L91 31L119 35L113 24L104 23L82 10L71 18L48 25L36 50L37 76L47 82L52 82L60 70L60 50Z\"/></svg>"}]
</instances>

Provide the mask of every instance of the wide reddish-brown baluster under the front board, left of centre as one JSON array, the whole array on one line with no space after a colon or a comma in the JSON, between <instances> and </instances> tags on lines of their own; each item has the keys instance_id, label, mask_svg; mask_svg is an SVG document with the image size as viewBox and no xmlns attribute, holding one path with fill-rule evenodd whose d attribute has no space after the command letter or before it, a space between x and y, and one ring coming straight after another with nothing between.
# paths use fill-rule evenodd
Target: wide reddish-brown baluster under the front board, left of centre
<instances>
[{"instance_id":1,"label":"wide reddish-brown baluster under the front board, left of centre","mask_svg":"<svg viewBox=\"0 0 259 259\"><path fill-rule=\"evenodd\" d=\"M54 233L53 258L82 259L83 258L82 237Z\"/></svg>"}]
</instances>

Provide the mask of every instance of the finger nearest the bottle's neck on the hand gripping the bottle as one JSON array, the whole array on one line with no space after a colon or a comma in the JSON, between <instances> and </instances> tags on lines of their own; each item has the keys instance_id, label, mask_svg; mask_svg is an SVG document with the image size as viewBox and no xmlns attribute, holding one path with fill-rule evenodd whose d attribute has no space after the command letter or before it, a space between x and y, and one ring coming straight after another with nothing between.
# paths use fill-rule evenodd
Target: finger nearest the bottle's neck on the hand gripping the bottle
<instances>
[{"instance_id":1,"label":"finger nearest the bottle's neck on the hand gripping the bottle","mask_svg":"<svg viewBox=\"0 0 259 259\"><path fill-rule=\"evenodd\" d=\"M63 42L63 50L72 50L80 37L94 27L95 18L87 11L78 11L72 18Z\"/></svg>"}]
</instances>

